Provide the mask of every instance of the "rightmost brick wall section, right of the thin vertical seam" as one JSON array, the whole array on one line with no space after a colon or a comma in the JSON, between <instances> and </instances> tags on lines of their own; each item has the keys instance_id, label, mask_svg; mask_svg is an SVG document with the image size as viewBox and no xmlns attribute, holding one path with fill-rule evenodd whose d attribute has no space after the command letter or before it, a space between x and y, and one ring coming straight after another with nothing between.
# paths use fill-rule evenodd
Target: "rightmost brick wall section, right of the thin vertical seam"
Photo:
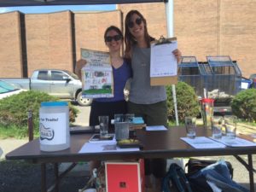
<instances>
[{"instance_id":1,"label":"rightmost brick wall section, right of the thin vertical seam","mask_svg":"<svg viewBox=\"0 0 256 192\"><path fill-rule=\"evenodd\" d=\"M238 61L244 77L256 73L256 1L221 1L220 51Z\"/></svg>"}]
</instances>

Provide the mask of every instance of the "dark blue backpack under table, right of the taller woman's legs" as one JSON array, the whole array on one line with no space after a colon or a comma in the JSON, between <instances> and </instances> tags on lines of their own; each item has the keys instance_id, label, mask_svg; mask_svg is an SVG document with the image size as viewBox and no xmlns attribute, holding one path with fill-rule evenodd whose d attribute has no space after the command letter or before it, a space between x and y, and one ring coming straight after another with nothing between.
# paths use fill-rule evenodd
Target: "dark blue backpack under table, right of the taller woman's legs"
<instances>
[{"instance_id":1,"label":"dark blue backpack under table, right of the taller woman's legs","mask_svg":"<svg viewBox=\"0 0 256 192\"><path fill-rule=\"evenodd\" d=\"M161 187L163 192L192 192L183 168L176 163L169 167Z\"/></svg>"}]
</instances>

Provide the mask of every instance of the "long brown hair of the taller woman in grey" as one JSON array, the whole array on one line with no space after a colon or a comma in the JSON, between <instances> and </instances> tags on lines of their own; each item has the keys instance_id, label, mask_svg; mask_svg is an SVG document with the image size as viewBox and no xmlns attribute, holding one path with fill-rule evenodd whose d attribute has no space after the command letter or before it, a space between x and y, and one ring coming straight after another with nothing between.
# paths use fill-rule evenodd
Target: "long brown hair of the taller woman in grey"
<instances>
[{"instance_id":1,"label":"long brown hair of the taller woman in grey","mask_svg":"<svg viewBox=\"0 0 256 192\"><path fill-rule=\"evenodd\" d=\"M148 34L147 21L145 20L143 15L137 10L129 11L125 17L125 58L130 58L130 59L131 59L131 51L132 51L131 47L132 47L132 45L137 44L136 38L134 38L134 36L131 34L129 27L128 27L128 23L131 20L131 16L134 14L138 15L143 20L144 38L147 42L148 47L150 47L150 41L152 40L152 38Z\"/></svg>"}]
</instances>

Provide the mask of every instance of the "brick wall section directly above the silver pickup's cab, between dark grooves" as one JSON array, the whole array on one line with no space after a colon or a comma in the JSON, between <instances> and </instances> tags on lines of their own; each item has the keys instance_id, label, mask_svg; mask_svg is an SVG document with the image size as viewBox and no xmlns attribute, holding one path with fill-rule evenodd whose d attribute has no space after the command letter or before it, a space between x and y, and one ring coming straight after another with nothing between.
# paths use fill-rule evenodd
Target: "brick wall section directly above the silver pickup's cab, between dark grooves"
<instances>
[{"instance_id":1,"label":"brick wall section directly above the silver pickup's cab, between dark grooves","mask_svg":"<svg viewBox=\"0 0 256 192\"><path fill-rule=\"evenodd\" d=\"M28 76L38 68L73 71L71 12L26 15Z\"/></svg>"}]
</instances>

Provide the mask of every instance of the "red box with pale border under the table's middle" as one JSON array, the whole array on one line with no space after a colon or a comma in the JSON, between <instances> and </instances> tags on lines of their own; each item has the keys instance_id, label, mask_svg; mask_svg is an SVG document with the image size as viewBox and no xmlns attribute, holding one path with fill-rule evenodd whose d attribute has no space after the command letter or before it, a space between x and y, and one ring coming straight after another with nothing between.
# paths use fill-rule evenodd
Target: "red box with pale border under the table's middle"
<instances>
[{"instance_id":1,"label":"red box with pale border under the table's middle","mask_svg":"<svg viewBox=\"0 0 256 192\"><path fill-rule=\"evenodd\" d=\"M105 162L107 192L144 192L144 160Z\"/></svg>"}]
</instances>

